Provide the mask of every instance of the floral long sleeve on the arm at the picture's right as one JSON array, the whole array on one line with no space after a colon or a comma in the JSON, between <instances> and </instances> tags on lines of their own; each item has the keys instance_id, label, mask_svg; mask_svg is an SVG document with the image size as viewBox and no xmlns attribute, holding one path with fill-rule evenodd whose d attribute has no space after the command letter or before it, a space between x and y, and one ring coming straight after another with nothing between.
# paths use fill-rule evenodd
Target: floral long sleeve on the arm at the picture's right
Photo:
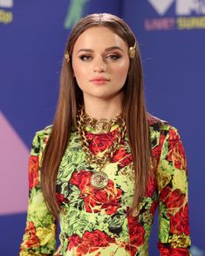
<instances>
[{"instance_id":1,"label":"floral long sleeve on the arm at the picture's right","mask_svg":"<svg viewBox=\"0 0 205 256\"><path fill-rule=\"evenodd\" d=\"M159 195L159 243L162 256L190 255L188 225L188 170L176 128L164 125L157 170Z\"/></svg>"}]
</instances>

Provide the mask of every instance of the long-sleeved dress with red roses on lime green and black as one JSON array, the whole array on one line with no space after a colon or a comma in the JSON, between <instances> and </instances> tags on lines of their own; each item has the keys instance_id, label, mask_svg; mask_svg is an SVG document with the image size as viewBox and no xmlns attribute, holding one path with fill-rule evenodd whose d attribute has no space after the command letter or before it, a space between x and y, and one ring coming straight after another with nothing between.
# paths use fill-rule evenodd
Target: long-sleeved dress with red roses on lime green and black
<instances>
[{"instance_id":1,"label":"long-sleeved dress with red roses on lime green and black","mask_svg":"<svg viewBox=\"0 0 205 256\"><path fill-rule=\"evenodd\" d=\"M37 132L29 162L29 206L20 247L27 255L148 255L148 242L159 207L161 255L189 255L188 173L186 157L176 128L155 118L149 120L152 150L157 168L147 182L138 211L129 213L133 201L133 163L127 138L107 163L106 188L91 185L95 165L85 162L85 152L72 130L69 145L58 170L56 197L60 207L60 246L56 250L56 219L44 203L40 165L51 127ZM118 127L97 135L85 128L92 154L100 156L114 140Z\"/></svg>"}]
</instances>

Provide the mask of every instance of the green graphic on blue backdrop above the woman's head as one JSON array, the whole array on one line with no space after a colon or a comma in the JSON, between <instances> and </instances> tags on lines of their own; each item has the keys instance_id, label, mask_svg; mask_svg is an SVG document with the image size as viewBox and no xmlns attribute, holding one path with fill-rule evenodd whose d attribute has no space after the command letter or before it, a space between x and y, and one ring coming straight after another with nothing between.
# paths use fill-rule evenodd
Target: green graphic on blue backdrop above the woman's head
<instances>
[{"instance_id":1,"label":"green graphic on blue backdrop above the woman's head","mask_svg":"<svg viewBox=\"0 0 205 256\"><path fill-rule=\"evenodd\" d=\"M65 29L71 29L73 25L83 17L85 3L89 1L90 0L71 0L68 6L67 16L65 17Z\"/></svg>"}]
</instances>

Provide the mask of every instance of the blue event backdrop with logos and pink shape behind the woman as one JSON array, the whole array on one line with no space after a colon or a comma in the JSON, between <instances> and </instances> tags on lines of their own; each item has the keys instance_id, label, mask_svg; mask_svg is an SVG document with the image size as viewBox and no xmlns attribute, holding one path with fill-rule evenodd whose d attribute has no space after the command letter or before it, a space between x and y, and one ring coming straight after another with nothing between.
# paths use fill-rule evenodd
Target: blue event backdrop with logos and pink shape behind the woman
<instances>
[{"instance_id":1,"label":"blue event backdrop with logos and pink shape behind the woman","mask_svg":"<svg viewBox=\"0 0 205 256\"><path fill-rule=\"evenodd\" d=\"M69 31L92 12L123 17L138 38L147 109L180 130L187 152L192 253L205 255L204 0L0 0L0 254L17 255L31 140L52 121ZM150 255L156 243L157 219Z\"/></svg>"}]
</instances>

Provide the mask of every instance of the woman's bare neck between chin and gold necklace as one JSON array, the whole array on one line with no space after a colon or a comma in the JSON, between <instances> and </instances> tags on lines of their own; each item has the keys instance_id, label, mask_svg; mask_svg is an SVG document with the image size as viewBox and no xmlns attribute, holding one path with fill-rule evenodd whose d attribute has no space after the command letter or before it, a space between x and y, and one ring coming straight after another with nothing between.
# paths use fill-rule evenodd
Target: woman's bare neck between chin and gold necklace
<instances>
[{"instance_id":1,"label":"woman's bare neck between chin and gold necklace","mask_svg":"<svg viewBox=\"0 0 205 256\"><path fill-rule=\"evenodd\" d=\"M122 95L123 96L123 95ZM122 99L116 100L84 99L85 113L94 119L112 119L122 112Z\"/></svg>"}]
</instances>

